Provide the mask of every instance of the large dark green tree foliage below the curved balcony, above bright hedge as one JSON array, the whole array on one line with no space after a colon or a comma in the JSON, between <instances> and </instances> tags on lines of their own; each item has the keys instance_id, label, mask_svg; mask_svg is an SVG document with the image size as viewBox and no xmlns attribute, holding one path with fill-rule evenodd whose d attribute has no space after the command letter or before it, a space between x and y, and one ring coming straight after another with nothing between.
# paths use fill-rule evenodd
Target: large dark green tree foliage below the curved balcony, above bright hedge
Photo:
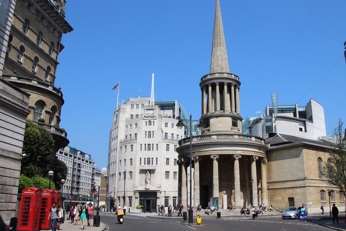
<instances>
[{"instance_id":1,"label":"large dark green tree foliage below the curved balcony, above bright hedge","mask_svg":"<svg viewBox=\"0 0 346 231\"><path fill-rule=\"evenodd\" d=\"M27 119L20 173L27 177L47 176L45 168L52 160L54 140L51 133L44 128L39 128L34 122Z\"/></svg>"}]
</instances>

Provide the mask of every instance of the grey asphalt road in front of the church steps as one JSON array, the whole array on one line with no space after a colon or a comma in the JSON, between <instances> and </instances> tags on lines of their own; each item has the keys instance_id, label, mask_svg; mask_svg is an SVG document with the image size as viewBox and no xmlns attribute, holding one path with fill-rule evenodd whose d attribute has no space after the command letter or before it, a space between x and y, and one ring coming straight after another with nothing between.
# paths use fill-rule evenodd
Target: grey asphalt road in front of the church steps
<instances>
[{"instance_id":1,"label":"grey asphalt road in front of the church steps","mask_svg":"<svg viewBox=\"0 0 346 231\"><path fill-rule=\"evenodd\" d=\"M202 224L206 226L188 226L177 223L181 220L177 219L160 219L151 218L146 216L138 216L126 214L124 216L124 223L119 224L117 216L111 213L101 214L101 222L108 225L108 231L141 231L141 230L155 230L155 231L193 231L193 230L268 230L268 231L326 231L328 228L319 226L313 223L313 218L308 218L307 221L300 220L283 220L281 217L261 217L252 220L252 217L239 217L239 218L224 218L224 219L204 219ZM195 220L194 220L195 221Z\"/></svg>"}]
</instances>

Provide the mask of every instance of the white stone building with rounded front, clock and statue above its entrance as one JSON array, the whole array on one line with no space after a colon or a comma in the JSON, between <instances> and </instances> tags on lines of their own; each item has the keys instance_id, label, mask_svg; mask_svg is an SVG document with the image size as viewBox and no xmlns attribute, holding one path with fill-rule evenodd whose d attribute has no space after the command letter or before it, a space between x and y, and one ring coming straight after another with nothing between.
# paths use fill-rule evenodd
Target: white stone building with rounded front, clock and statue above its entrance
<instances>
[{"instance_id":1,"label":"white stone building with rounded front, clock and statue above its entrance","mask_svg":"<svg viewBox=\"0 0 346 231\"><path fill-rule=\"evenodd\" d=\"M135 211L140 204L142 212L155 212L158 204L178 203L175 149L184 130L176 123L177 117L186 113L176 100L155 102L152 106L149 100L130 98L113 115L108 157L109 207L125 203Z\"/></svg>"}]
</instances>

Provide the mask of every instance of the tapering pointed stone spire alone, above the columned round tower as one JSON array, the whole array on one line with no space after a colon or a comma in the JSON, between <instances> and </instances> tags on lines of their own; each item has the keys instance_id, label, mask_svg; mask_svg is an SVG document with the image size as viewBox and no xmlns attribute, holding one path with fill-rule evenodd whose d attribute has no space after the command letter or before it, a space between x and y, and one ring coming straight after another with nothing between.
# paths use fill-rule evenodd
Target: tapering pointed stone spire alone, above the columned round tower
<instances>
[{"instance_id":1,"label":"tapering pointed stone spire alone, above the columned round tower","mask_svg":"<svg viewBox=\"0 0 346 231\"><path fill-rule=\"evenodd\" d=\"M210 73L229 73L224 26L222 26L219 0L216 0L213 45L211 51Z\"/></svg>"}]
</instances>

